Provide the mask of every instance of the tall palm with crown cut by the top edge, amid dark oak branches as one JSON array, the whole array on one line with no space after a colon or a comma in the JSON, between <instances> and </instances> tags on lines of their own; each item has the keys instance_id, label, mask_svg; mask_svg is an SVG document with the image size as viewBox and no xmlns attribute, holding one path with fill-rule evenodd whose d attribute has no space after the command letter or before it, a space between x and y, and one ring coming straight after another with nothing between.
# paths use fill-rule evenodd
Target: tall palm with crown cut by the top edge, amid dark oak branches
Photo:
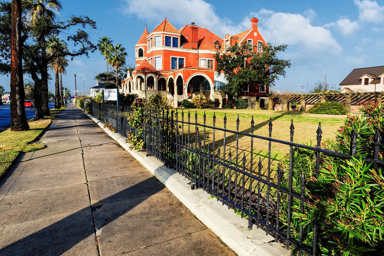
<instances>
[{"instance_id":1,"label":"tall palm with crown cut by the top edge, amid dark oak branches","mask_svg":"<svg viewBox=\"0 0 384 256\"><path fill-rule=\"evenodd\" d=\"M40 18L47 18L50 21L55 20L56 14L59 14L60 9L62 8L60 0L30 0L32 2L31 9L26 13L26 18L31 24L31 26L35 26L35 24L40 20ZM48 33L46 28L42 26L39 30L39 36L36 36L36 40L38 45L41 48L41 60L46 61L46 34ZM36 94L40 93L40 88L37 84L35 84L35 118L43 117L42 114L49 115L49 107L48 107L48 64L45 63L46 67L41 72L41 102L40 97L37 97ZM38 116L36 117L36 113Z\"/></svg>"}]
</instances>

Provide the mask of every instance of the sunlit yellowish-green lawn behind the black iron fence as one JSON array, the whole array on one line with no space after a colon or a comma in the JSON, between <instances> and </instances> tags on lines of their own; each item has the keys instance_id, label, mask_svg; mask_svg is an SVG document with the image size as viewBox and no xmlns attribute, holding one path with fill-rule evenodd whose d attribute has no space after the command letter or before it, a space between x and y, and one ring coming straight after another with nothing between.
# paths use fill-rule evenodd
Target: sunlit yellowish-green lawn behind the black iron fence
<instances>
[{"instance_id":1,"label":"sunlit yellowish-green lawn behind the black iron fence","mask_svg":"<svg viewBox=\"0 0 384 256\"><path fill-rule=\"evenodd\" d=\"M204 123L204 112L207 116L206 124L213 126L212 117L215 113L216 127L224 127L223 119L224 114L227 115L227 126L229 130L236 130L237 115L240 119L239 131L244 133L251 133L251 120L255 122L254 134L263 137L268 137L269 130L268 124L270 117L272 119L272 138L279 140L290 140L290 126L291 120L295 127L293 142L296 143L308 143L310 141L313 144L316 143L316 130L318 129L319 122L321 122L321 129L323 131L322 141L327 139L333 139L334 132L343 125L346 115L318 115L310 114L303 111L268 111L268 110L251 110L251 109L182 109L178 110L179 120L181 120L181 112L184 111L184 121L188 121L188 111L190 112L190 122L195 122L195 113L197 113L197 123ZM203 139L203 127L199 127L200 138ZM187 136L188 127L184 125L184 135ZM195 126L190 126L190 136L194 137ZM209 143L212 149L213 142L213 130L206 129L206 145ZM221 153L220 159L223 158L223 139L224 134L221 131L215 131L215 155L217 157L217 147L220 146ZM236 158L236 135L231 132L226 132L226 159L228 158L229 150L232 152L232 159L235 162ZM246 169L250 169L250 154L251 154L251 139L247 136L239 136L238 138L238 162L241 162L243 153L247 158ZM289 153L289 146L271 143L271 176L275 177L276 165L280 162L286 154ZM263 169L263 176L266 177L266 167L268 166L268 141L263 139L253 140L253 166L254 170L257 167L257 161L261 158Z\"/></svg>"}]
</instances>

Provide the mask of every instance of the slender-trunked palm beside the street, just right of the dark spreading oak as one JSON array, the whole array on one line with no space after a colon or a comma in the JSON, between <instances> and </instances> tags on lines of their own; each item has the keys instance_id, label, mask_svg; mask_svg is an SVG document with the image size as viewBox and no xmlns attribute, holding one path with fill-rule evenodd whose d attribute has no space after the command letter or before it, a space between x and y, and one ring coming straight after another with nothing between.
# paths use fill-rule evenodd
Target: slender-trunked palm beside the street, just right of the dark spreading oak
<instances>
[{"instance_id":1,"label":"slender-trunked palm beside the street, just right of the dark spreading oak","mask_svg":"<svg viewBox=\"0 0 384 256\"><path fill-rule=\"evenodd\" d=\"M61 40L57 36L52 36L48 38L48 53L53 56L50 66L55 70L55 109L60 109L61 100L60 100L60 83L59 83L59 69L62 69L64 57L55 57L61 55L63 52L68 51L67 44L65 41Z\"/></svg>"}]
</instances>

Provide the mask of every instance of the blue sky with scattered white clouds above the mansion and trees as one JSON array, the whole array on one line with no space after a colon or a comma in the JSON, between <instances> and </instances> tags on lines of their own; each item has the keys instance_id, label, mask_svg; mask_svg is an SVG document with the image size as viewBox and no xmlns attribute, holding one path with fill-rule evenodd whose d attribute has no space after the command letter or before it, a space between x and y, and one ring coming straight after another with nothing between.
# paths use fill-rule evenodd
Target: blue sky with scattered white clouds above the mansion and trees
<instances>
[{"instance_id":1,"label":"blue sky with scattered white clouds above the mansion and trees","mask_svg":"<svg viewBox=\"0 0 384 256\"><path fill-rule=\"evenodd\" d=\"M208 1L208 0L65 0L61 18L87 15L98 30L89 31L96 44L108 36L121 43L128 53L126 62L134 65L134 45L147 24L151 32L167 16L177 29L195 22L223 37L250 28L250 18L259 19L259 31L267 42L288 44L281 55L291 60L285 78L276 89L308 92L317 81L339 88L338 84L354 68L384 65L384 1ZM65 35L63 35L66 37ZM71 46L71 45L70 45ZM94 76L106 70L98 51L90 58L70 61L63 85L74 92L74 74L79 91L96 84ZM31 80L25 76L25 80ZM83 80L84 79L84 80ZM9 77L0 84L9 91ZM83 87L84 84L84 87ZM297 85L297 86L296 86ZM49 89L55 81L50 80Z\"/></svg>"}]
</instances>

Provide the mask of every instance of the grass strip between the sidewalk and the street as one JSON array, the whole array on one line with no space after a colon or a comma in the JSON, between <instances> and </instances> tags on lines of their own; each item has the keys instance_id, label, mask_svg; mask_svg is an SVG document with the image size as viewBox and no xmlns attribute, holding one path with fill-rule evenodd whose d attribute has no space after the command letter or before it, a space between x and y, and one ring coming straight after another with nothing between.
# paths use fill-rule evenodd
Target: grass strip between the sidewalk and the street
<instances>
[{"instance_id":1,"label":"grass strip between the sidewalk and the street","mask_svg":"<svg viewBox=\"0 0 384 256\"><path fill-rule=\"evenodd\" d=\"M12 132L11 129L7 129L0 133L0 178L7 172L20 153L33 152L46 147L43 144L32 143L32 141L43 132L52 119L64 108L51 109L51 115L44 116L45 119L28 120L29 130Z\"/></svg>"}]
</instances>

